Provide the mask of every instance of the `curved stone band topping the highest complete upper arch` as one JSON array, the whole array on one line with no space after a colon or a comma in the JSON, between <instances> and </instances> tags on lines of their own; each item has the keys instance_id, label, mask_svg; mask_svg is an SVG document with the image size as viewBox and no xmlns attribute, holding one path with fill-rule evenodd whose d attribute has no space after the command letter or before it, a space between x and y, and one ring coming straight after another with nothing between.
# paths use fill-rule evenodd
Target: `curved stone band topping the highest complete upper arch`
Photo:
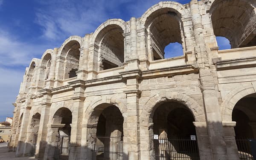
<instances>
[{"instance_id":1,"label":"curved stone band topping the highest complete upper arch","mask_svg":"<svg viewBox=\"0 0 256 160\"><path fill-rule=\"evenodd\" d=\"M154 12L157 11L159 9L163 9L163 8L171 8L174 9L175 11L177 11L178 15L180 16L180 18L187 18L190 17L190 11L189 9L186 9L186 7L178 2L173 2L173 1L162 1L159 2L157 4L155 4L154 6L151 6L147 11L145 11L145 13L141 16L140 18L140 24L143 25L142 27L145 26L145 23L147 21L147 18Z\"/></svg>"}]
</instances>

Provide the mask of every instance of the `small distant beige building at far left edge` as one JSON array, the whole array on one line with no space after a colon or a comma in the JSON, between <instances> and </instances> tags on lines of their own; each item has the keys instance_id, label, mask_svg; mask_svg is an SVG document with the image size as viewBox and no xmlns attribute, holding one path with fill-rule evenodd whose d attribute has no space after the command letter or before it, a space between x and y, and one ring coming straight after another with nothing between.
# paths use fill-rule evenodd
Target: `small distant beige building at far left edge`
<instances>
[{"instance_id":1,"label":"small distant beige building at far left edge","mask_svg":"<svg viewBox=\"0 0 256 160\"><path fill-rule=\"evenodd\" d=\"M12 117L6 117L6 121L0 122L0 143L9 142L11 135Z\"/></svg>"}]
</instances>

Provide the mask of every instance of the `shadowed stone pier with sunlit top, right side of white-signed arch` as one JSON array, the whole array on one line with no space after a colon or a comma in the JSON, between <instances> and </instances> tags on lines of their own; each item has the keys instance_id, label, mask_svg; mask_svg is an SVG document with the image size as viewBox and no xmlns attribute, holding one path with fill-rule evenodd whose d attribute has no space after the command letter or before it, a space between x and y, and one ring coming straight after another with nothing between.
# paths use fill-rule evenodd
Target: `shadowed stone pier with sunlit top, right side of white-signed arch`
<instances>
[{"instance_id":1,"label":"shadowed stone pier with sunlit top, right side of white-signed arch","mask_svg":"<svg viewBox=\"0 0 256 160\"><path fill-rule=\"evenodd\" d=\"M211 153L211 147L209 142L207 123L206 122L193 122L193 123L195 125L200 160L211 160L212 153Z\"/></svg>"}]
</instances>

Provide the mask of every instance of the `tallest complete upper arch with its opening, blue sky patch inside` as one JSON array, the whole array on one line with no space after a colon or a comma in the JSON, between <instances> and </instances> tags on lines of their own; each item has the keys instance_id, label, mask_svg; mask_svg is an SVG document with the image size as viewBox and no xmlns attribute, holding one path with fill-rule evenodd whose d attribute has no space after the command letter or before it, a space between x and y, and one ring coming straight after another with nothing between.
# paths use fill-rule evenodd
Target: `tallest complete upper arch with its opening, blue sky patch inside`
<instances>
[{"instance_id":1,"label":"tallest complete upper arch with its opening, blue sky patch inside","mask_svg":"<svg viewBox=\"0 0 256 160\"><path fill-rule=\"evenodd\" d=\"M145 28L149 60L183 56L187 50L183 18L190 17L189 9L177 2L160 2L152 6L140 18L140 28ZM179 45L176 55L165 53L166 46ZM175 45L175 46L176 46ZM169 47L170 47L169 46ZM168 47L167 47L168 48ZM177 55L178 54L178 55Z\"/></svg>"}]
</instances>

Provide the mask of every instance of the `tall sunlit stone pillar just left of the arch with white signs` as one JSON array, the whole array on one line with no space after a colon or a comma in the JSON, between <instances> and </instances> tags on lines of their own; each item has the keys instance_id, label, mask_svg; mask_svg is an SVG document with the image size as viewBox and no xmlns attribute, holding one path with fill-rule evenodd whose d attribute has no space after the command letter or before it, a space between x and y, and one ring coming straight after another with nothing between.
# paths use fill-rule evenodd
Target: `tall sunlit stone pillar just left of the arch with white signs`
<instances>
[{"instance_id":1,"label":"tall sunlit stone pillar just left of the arch with white signs","mask_svg":"<svg viewBox=\"0 0 256 160\"><path fill-rule=\"evenodd\" d=\"M129 66L129 65L128 65ZM128 155L128 160L140 159L140 120L139 120L139 98L138 79L141 75L140 70L130 70L120 72L122 77L127 80L127 126L124 127L124 137L127 140L127 151L124 148L124 155ZM126 157L124 157L126 160Z\"/></svg>"}]
</instances>

